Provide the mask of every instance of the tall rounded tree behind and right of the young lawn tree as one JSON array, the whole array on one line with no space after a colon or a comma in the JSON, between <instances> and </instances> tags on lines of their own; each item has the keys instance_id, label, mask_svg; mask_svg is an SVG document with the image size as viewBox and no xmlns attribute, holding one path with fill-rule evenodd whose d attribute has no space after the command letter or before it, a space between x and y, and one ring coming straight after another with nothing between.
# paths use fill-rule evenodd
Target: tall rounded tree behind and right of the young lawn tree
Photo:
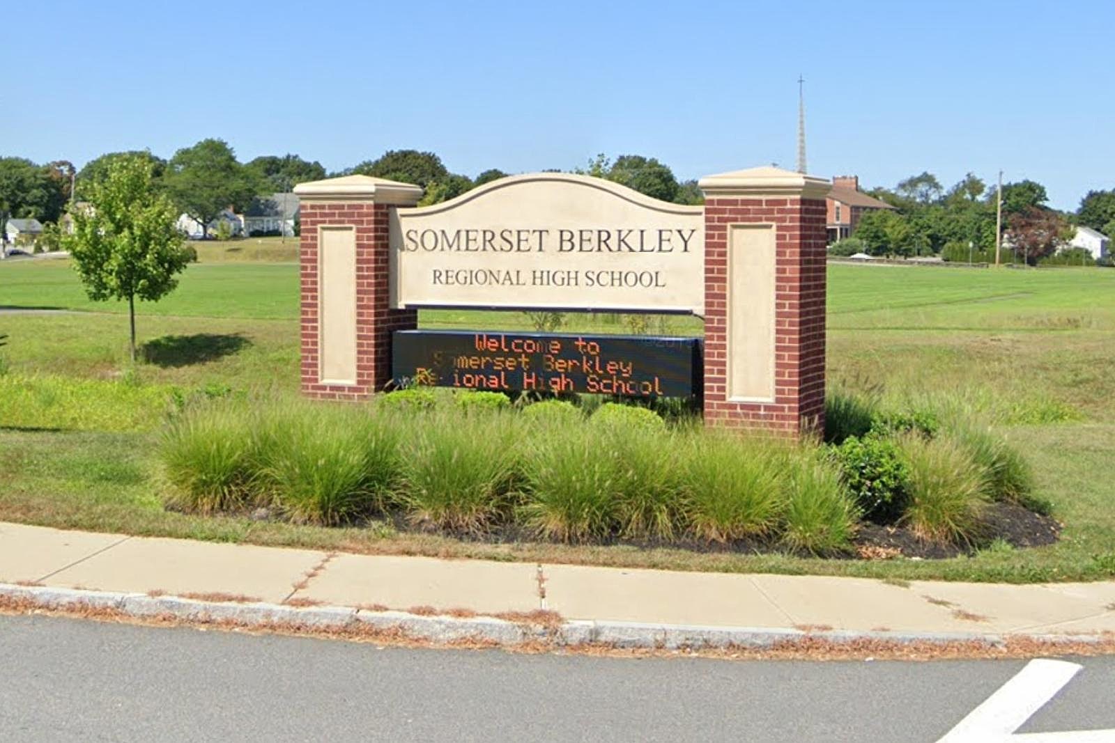
<instances>
[{"instance_id":1,"label":"tall rounded tree behind and right of the young lawn tree","mask_svg":"<svg viewBox=\"0 0 1115 743\"><path fill-rule=\"evenodd\" d=\"M202 139L193 147L174 154L163 176L171 201L202 225L227 208L241 211L264 189L255 174L236 162L232 148L222 139Z\"/></svg>"}]
</instances>

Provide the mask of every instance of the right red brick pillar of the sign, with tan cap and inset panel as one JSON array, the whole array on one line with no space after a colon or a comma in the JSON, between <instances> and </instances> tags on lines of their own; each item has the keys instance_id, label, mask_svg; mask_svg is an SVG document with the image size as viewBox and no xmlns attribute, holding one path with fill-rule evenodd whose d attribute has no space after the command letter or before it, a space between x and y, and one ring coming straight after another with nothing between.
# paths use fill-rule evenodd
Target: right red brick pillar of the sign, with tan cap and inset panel
<instances>
[{"instance_id":1,"label":"right red brick pillar of the sign, with tan cap and inset panel","mask_svg":"<svg viewBox=\"0 0 1115 743\"><path fill-rule=\"evenodd\" d=\"M824 428L827 182L764 167L705 194L705 421Z\"/></svg>"}]
</instances>

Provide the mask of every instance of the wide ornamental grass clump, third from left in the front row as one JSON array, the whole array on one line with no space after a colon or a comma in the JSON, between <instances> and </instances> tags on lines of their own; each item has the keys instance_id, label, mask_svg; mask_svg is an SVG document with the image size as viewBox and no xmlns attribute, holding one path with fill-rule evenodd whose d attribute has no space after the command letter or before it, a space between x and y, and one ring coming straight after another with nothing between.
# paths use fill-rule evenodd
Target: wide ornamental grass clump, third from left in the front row
<instances>
[{"instance_id":1,"label":"wide ornamental grass clump, third from left in the front row","mask_svg":"<svg viewBox=\"0 0 1115 743\"><path fill-rule=\"evenodd\" d=\"M406 448L407 520L419 527L481 534L511 506L515 472L512 416L460 426L449 416L420 419ZM417 427L416 427L417 428Z\"/></svg>"}]
</instances>

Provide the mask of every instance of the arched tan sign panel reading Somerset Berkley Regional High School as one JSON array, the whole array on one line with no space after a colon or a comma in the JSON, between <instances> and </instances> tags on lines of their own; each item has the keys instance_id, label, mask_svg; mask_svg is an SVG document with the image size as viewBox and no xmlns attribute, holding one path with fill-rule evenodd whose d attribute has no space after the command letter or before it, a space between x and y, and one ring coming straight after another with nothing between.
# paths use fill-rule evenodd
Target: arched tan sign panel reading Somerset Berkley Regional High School
<instances>
[{"instance_id":1,"label":"arched tan sign panel reading Somerset Berkley Regional High School","mask_svg":"<svg viewBox=\"0 0 1115 743\"><path fill-rule=\"evenodd\" d=\"M562 173L395 209L391 306L705 314L705 217Z\"/></svg>"}]
</instances>

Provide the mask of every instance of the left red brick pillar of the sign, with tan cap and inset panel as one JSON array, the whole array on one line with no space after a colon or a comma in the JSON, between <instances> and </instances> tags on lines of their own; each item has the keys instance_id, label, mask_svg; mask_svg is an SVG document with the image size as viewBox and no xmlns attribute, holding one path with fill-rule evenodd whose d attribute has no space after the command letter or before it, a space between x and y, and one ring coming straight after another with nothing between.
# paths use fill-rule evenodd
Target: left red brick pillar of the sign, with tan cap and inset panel
<instances>
[{"instance_id":1,"label":"left red brick pillar of the sign, with tan cap and inset panel","mask_svg":"<svg viewBox=\"0 0 1115 743\"><path fill-rule=\"evenodd\" d=\"M301 219L302 393L360 400L391 379L391 332L417 325L390 307L391 211L421 188L345 176L294 187Z\"/></svg>"}]
</instances>

